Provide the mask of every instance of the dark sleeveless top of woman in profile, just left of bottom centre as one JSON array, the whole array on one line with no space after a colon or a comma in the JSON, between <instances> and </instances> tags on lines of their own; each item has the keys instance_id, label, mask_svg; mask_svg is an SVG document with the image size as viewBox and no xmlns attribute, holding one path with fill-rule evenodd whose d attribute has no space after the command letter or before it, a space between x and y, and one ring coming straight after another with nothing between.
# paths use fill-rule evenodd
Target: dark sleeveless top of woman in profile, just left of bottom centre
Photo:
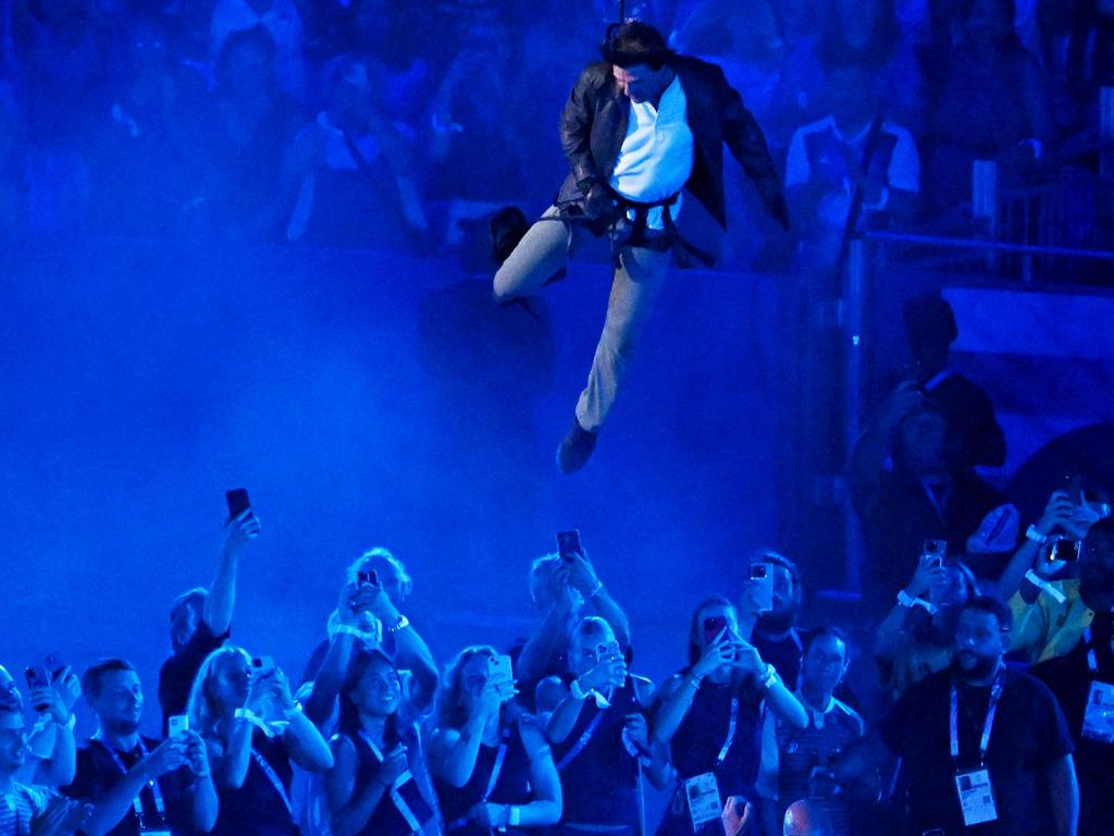
<instances>
[{"instance_id":1,"label":"dark sleeveless top of woman in profile, just left of bottom centre","mask_svg":"<svg viewBox=\"0 0 1114 836\"><path fill-rule=\"evenodd\" d=\"M499 751L504 751L495 787L485 799L491 774L499 760ZM453 787L438 776L433 776L433 789L444 818L444 829L453 836L489 836L486 827L481 827L467 818L468 811L482 800L492 804L528 804L530 801L530 760L522 746L518 723L501 728L499 745L480 743L476 756L476 766L468 782L462 787ZM525 833L514 827L507 828L508 834Z\"/></svg>"}]
</instances>

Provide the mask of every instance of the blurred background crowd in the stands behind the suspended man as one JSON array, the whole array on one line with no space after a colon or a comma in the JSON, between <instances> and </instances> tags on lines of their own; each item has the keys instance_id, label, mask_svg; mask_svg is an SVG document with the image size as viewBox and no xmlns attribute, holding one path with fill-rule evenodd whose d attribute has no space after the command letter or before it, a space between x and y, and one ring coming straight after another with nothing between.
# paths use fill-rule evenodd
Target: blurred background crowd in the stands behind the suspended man
<instances>
[{"instance_id":1,"label":"blurred background crowd in the stands behind the suspended man","mask_svg":"<svg viewBox=\"0 0 1114 836\"><path fill-rule=\"evenodd\" d=\"M974 159L1029 179L1097 173L1108 3L626 6L742 93L785 167L810 263L831 262L849 226L954 212ZM557 116L617 13L556 0L3 0L0 227L452 246L461 218L547 205L565 165Z\"/></svg>"}]
</instances>

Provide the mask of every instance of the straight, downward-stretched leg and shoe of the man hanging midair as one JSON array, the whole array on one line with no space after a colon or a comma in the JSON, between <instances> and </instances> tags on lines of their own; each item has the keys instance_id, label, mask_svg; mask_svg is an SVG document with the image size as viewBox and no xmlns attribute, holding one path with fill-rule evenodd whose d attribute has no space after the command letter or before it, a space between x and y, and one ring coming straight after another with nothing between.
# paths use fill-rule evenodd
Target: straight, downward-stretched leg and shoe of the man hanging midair
<instances>
[{"instance_id":1,"label":"straight, downward-stretched leg and shoe of the man hanging midair","mask_svg":"<svg viewBox=\"0 0 1114 836\"><path fill-rule=\"evenodd\" d=\"M615 404L670 263L668 252L643 247L624 247L619 255L588 383L576 405L576 419L557 449L557 467L565 474L584 467L596 448L596 434Z\"/></svg>"}]
</instances>

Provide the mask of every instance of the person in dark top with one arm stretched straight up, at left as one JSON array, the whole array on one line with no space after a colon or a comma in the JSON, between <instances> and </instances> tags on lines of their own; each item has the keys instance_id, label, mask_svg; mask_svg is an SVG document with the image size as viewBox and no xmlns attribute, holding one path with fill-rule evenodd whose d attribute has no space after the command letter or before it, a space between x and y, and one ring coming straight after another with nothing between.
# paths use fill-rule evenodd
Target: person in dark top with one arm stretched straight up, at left
<instances>
[{"instance_id":1,"label":"person in dark top with one arm stretched straight up, at left","mask_svg":"<svg viewBox=\"0 0 1114 836\"><path fill-rule=\"evenodd\" d=\"M170 606L170 644L174 654L158 672L158 702L163 735L167 719L183 715L202 662L232 632L236 605L236 574L247 544L260 536L260 519L251 508L224 526L224 546L209 589L198 586L175 599Z\"/></svg>"}]
</instances>

